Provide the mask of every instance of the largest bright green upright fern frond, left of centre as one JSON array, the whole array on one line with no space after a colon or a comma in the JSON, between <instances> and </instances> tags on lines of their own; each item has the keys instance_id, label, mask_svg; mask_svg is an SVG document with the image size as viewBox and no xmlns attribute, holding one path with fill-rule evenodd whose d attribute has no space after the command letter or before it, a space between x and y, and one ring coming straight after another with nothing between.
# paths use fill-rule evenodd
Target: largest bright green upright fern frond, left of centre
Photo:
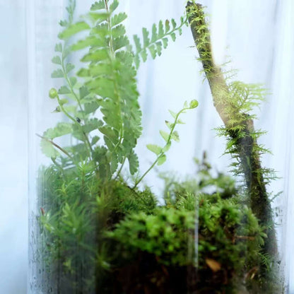
<instances>
[{"instance_id":1,"label":"largest bright green upright fern frond, left of centre","mask_svg":"<svg viewBox=\"0 0 294 294\"><path fill-rule=\"evenodd\" d=\"M73 44L71 49L88 49L81 59L86 66L77 73L84 79L90 95L89 103L81 113L90 115L91 110L99 109L103 115L103 124L97 129L107 146L107 165L111 167L105 167L108 172L103 174L109 176L126 158L129 159L130 172L136 172L138 160L134 160L134 147L141 135L134 57L129 51L129 39L122 25L127 15L115 14L117 6L117 0L95 2L86 17L91 25L78 22L59 35L72 37L81 30L88 31L88 35ZM81 98L81 101L87 100Z\"/></svg>"}]
</instances>

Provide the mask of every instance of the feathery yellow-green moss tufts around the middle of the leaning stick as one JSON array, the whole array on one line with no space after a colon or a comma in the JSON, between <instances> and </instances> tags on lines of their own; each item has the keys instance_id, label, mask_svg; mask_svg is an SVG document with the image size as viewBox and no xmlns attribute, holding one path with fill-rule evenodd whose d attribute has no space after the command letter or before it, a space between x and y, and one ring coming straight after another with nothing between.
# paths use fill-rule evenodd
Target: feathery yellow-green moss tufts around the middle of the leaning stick
<instances>
[{"instance_id":1,"label":"feathery yellow-green moss tufts around the middle of the leaning stick","mask_svg":"<svg viewBox=\"0 0 294 294\"><path fill-rule=\"evenodd\" d=\"M228 124L225 127L218 128L217 131L220 136L225 136L228 139L225 153L230 154L235 159L233 171L236 175L244 175L244 165L240 165L242 154L240 154L240 149L237 146L242 140L257 142L260 136L266 133L265 131L254 130L253 127L253 119L257 119L254 110L265 99L266 90L258 84L246 84L229 79L227 81L230 104L226 111L229 119ZM252 143L252 153L261 156L264 153L270 153L270 151L261 144ZM252 167L249 167L249 169L252 170ZM260 168L255 172L265 177L266 184L276 178L273 170Z\"/></svg>"}]
</instances>

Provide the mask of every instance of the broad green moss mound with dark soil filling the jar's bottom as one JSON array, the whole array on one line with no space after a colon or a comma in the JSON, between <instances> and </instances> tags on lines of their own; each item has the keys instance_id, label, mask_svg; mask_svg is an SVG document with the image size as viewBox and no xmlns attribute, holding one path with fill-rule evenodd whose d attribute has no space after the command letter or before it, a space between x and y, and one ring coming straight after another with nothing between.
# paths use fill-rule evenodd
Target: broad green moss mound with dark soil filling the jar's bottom
<instances>
[{"instance_id":1,"label":"broad green moss mound with dark soil filling the jar's bottom","mask_svg":"<svg viewBox=\"0 0 294 294\"><path fill-rule=\"evenodd\" d=\"M45 168L40 186L43 266L61 293L237 293L261 283L264 228L208 163L194 180L165 177L162 206L149 189L102 184L86 166Z\"/></svg>"}]
</instances>

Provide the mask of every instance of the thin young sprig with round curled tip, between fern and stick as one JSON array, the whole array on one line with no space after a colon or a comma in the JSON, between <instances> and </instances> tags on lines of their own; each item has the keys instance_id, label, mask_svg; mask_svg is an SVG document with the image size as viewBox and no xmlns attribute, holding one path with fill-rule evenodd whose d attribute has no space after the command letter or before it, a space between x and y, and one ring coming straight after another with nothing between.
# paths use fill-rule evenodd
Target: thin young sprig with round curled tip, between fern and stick
<instances>
[{"instance_id":1,"label":"thin young sprig with round curled tip, between fern and stick","mask_svg":"<svg viewBox=\"0 0 294 294\"><path fill-rule=\"evenodd\" d=\"M143 173L143 175L139 178L139 180L136 180L134 188L138 186L138 184L141 182L141 180L143 180L143 178L148 174L148 172L150 172L153 169L153 167L156 164L163 165L163 163L165 163L165 160L166 160L165 153L170 150L170 146L172 145L172 140L175 140L177 142L180 141L179 134L177 133L177 131L175 131L175 126L177 124L184 124L179 118L180 114L185 113L186 110L192 110L192 109L196 108L197 106L198 106L198 101L192 100L189 105L188 105L187 101L184 102L184 107L182 108L182 110L180 110L177 113L172 112L170 110L170 114L175 119L175 121L173 123L165 121L165 124L167 125L168 129L170 129L170 133L167 133L166 131L163 131L163 130L159 131L160 136L162 136L165 141L165 146L160 147L160 146L154 145L154 144L148 144L146 146L148 148L148 150L155 153L156 159L154 160L152 165L148 168L148 170L146 170L146 172Z\"/></svg>"}]
</instances>

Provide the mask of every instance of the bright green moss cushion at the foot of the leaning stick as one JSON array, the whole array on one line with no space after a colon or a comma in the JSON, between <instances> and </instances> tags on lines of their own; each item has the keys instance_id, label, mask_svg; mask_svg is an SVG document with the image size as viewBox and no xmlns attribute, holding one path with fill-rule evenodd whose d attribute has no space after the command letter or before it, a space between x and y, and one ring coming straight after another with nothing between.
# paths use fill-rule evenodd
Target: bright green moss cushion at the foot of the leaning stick
<instances>
[{"instance_id":1,"label":"bright green moss cushion at the foot of the leaning stick","mask_svg":"<svg viewBox=\"0 0 294 294\"><path fill-rule=\"evenodd\" d=\"M260 253L266 238L264 228L242 204L235 182L222 173L213 177L206 160L199 163L199 172L192 180L164 179L164 206L149 215L132 212L105 233L117 252L112 262L124 269L124 265L142 258L146 260L141 262L150 264L156 260L169 273L177 271L177 283L186 281L187 276L180 273L191 266L199 277L194 285L197 289L237 293L237 284L247 271L258 271L257 265L270 259ZM152 272L156 269L153 265L148 276L160 278ZM259 274L254 275L254 279L247 277L246 283L258 281ZM178 293L177 288L167 293Z\"/></svg>"}]
</instances>

